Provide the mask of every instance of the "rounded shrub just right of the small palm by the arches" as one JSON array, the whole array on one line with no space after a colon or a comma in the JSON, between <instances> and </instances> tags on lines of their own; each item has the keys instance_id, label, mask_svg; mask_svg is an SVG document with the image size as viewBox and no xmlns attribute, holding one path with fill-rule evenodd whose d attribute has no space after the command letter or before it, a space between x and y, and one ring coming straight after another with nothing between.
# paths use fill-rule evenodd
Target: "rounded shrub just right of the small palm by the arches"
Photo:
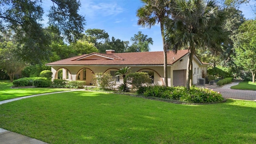
<instances>
[{"instance_id":1,"label":"rounded shrub just right of the small palm by the arches","mask_svg":"<svg viewBox=\"0 0 256 144\"><path fill-rule=\"evenodd\" d=\"M134 72L131 74L128 74L125 77L128 84L132 85L132 89L138 89L139 87L143 85L149 85L151 84L151 78L146 72Z\"/></svg>"}]
</instances>

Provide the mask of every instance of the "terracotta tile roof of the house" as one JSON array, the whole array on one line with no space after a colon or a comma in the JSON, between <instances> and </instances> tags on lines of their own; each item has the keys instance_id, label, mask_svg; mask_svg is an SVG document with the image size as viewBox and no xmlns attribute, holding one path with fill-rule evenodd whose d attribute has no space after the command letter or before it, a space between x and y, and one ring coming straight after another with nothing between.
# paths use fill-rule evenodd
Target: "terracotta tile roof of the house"
<instances>
[{"instance_id":1,"label":"terracotta tile roof of the house","mask_svg":"<svg viewBox=\"0 0 256 144\"><path fill-rule=\"evenodd\" d=\"M188 54L188 50L178 50L177 54L170 51L167 53L167 64L172 65L174 62L180 60L183 56ZM101 57L102 59L90 59L92 56ZM76 56L51 62L47 66L61 66L61 65L164 65L163 52L128 52L128 53L114 53L102 54L91 53L82 56Z\"/></svg>"}]
</instances>

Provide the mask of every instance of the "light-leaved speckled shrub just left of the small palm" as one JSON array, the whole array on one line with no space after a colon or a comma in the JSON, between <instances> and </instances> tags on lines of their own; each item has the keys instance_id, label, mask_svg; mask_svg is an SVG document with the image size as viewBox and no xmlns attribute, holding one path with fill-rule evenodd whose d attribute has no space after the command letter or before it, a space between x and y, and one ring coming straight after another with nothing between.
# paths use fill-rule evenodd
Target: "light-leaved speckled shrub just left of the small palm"
<instances>
[{"instance_id":1,"label":"light-leaved speckled shrub just left of the small palm","mask_svg":"<svg viewBox=\"0 0 256 144\"><path fill-rule=\"evenodd\" d=\"M96 73L93 75L92 83L101 90L113 90L116 81L112 81L112 76L106 73Z\"/></svg>"}]
</instances>

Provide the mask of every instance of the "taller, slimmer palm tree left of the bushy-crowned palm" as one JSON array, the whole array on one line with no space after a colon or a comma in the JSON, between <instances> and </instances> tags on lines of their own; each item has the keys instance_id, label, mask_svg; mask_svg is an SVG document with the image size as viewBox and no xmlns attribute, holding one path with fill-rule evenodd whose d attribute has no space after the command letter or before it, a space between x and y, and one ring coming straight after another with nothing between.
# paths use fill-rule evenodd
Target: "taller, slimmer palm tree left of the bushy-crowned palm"
<instances>
[{"instance_id":1,"label":"taller, slimmer palm tree left of the bushy-crowned palm","mask_svg":"<svg viewBox=\"0 0 256 144\"><path fill-rule=\"evenodd\" d=\"M151 28L155 24L160 24L163 46L164 46L164 85L168 86L167 79L167 51L165 43L164 23L170 16L171 0L141 0L141 6L136 13L138 25Z\"/></svg>"}]
</instances>

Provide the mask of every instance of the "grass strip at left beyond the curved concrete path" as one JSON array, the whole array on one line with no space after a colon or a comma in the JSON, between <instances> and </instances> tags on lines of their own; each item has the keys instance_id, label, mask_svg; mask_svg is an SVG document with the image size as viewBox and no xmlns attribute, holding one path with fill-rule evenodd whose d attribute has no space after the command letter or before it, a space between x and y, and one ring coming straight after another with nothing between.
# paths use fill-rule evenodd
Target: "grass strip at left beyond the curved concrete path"
<instances>
[{"instance_id":1,"label":"grass strip at left beyond the curved concrete path","mask_svg":"<svg viewBox=\"0 0 256 144\"><path fill-rule=\"evenodd\" d=\"M0 101L34 94L60 92L70 90L67 88L11 88L12 82L0 82Z\"/></svg>"}]
</instances>

